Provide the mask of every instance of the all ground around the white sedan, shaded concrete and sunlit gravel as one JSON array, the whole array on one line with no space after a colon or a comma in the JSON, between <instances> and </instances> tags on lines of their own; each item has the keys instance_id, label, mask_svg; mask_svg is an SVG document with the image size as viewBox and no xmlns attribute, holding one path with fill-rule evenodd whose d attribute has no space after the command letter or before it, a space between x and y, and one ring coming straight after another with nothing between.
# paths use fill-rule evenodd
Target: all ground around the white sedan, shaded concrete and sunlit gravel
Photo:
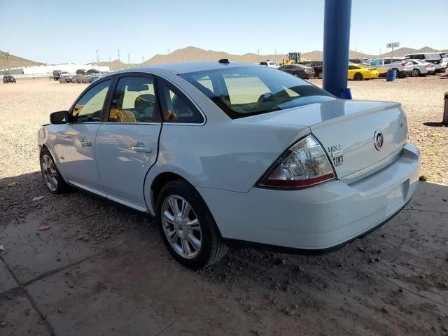
<instances>
[{"instance_id":1,"label":"all ground around the white sedan, shaded concrete and sunlit gravel","mask_svg":"<svg viewBox=\"0 0 448 336\"><path fill-rule=\"evenodd\" d=\"M448 183L448 80L349 84L355 99L402 102L423 174ZM152 218L45 190L36 132L84 87L0 85L0 335L448 335L448 186L421 183L391 222L335 253L231 250L191 272Z\"/></svg>"}]
</instances>

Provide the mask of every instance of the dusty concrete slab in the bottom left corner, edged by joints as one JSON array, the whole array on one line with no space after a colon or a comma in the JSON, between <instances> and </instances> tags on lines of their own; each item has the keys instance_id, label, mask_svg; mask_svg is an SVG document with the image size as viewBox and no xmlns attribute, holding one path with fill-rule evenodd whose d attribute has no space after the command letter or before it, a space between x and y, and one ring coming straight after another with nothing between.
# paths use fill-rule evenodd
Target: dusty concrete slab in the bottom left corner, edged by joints
<instances>
[{"instance_id":1,"label":"dusty concrete slab in the bottom left corner, edged by joints","mask_svg":"<svg viewBox=\"0 0 448 336\"><path fill-rule=\"evenodd\" d=\"M0 335L50 336L45 323L31 307L27 297L8 295L0 297Z\"/></svg>"}]
</instances>

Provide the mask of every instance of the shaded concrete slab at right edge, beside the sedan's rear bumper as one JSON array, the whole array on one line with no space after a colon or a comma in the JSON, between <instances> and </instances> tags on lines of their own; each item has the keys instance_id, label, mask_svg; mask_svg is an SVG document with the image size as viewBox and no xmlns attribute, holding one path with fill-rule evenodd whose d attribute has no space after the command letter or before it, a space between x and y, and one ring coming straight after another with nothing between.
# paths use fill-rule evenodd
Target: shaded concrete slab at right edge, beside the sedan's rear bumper
<instances>
[{"instance_id":1,"label":"shaded concrete slab at right edge, beside the sedan's rear bumper","mask_svg":"<svg viewBox=\"0 0 448 336\"><path fill-rule=\"evenodd\" d=\"M419 182L419 187L416 189L408 207L448 214L448 186L437 183Z\"/></svg>"}]
</instances>

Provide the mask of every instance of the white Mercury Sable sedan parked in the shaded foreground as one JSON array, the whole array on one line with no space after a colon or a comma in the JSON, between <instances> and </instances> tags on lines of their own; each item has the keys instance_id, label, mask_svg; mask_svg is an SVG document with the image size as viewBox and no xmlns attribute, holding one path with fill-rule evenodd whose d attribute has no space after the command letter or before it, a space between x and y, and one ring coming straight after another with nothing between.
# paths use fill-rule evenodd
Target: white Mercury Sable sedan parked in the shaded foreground
<instances>
[{"instance_id":1,"label":"white Mercury Sable sedan parked in the shaded foreground","mask_svg":"<svg viewBox=\"0 0 448 336\"><path fill-rule=\"evenodd\" d=\"M193 269L228 246L332 251L395 216L419 179L400 104L227 59L107 74L50 121L38 131L50 192L156 216Z\"/></svg>"}]
</instances>

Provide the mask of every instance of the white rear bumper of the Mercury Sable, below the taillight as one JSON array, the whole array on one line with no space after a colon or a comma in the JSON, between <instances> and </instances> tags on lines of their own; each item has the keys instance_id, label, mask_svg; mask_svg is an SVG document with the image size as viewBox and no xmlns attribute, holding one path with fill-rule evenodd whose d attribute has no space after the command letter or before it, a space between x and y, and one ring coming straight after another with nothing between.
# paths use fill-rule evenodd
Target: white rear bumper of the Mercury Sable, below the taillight
<instances>
[{"instance_id":1,"label":"white rear bumper of the Mercury Sable, below the taillight","mask_svg":"<svg viewBox=\"0 0 448 336\"><path fill-rule=\"evenodd\" d=\"M197 189L223 238L313 253L343 246L393 218L414 194L419 174L419 149L406 144L393 163L353 183L248 193Z\"/></svg>"}]
</instances>

